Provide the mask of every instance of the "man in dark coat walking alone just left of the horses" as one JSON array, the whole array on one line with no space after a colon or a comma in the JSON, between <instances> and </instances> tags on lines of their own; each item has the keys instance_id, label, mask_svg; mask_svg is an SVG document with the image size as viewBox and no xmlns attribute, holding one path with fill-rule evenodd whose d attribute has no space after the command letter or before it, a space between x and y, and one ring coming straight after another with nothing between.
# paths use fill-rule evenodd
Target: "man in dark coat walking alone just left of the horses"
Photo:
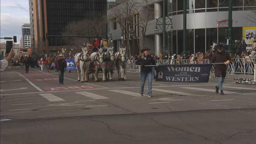
<instances>
[{"instance_id":1,"label":"man in dark coat walking alone just left of the horses","mask_svg":"<svg viewBox=\"0 0 256 144\"><path fill-rule=\"evenodd\" d=\"M59 59L57 59L57 71L59 72L59 84L64 84L64 71L66 69L66 60L63 58L63 55L59 55Z\"/></svg>"}]
</instances>

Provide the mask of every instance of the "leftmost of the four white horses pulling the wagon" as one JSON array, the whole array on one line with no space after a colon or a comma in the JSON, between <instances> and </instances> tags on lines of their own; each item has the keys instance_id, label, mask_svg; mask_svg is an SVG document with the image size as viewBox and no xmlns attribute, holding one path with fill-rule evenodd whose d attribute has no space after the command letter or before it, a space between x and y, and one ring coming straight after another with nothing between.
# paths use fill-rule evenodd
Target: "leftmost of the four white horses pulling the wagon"
<instances>
[{"instance_id":1,"label":"leftmost of the four white horses pulling the wagon","mask_svg":"<svg viewBox=\"0 0 256 144\"><path fill-rule=\"evenodd\" d=\"M80 81L79 68L81 71L81 83L88 82L89 78L89 68L90 68L90 55L88 52L88 47L80 47L81 52L75 55L76 69L78 73L77 81Z\"/></svg>"}]
</instances>

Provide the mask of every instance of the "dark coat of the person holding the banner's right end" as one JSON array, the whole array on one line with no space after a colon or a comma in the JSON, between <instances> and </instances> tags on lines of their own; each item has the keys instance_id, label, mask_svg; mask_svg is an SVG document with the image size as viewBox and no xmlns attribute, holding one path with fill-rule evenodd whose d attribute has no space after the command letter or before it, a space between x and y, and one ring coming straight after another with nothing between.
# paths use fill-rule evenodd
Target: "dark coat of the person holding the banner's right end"
<instances>
[{"instance_id":1,"label":"dark coat of the person holding the banner's right end","mask_svg":"<svg viewBox=\"0 0 256 144\"><path fill-rule=\"evenodd\" d=\"M211 63L223 63L227 60L231 62L231 58L227 52L225 52L224 50L222 52L216 51L213 54L213 57L211 58ZM224 78L226 77L227 66L225 64L215 64L214 72L215 72L215 76L217 77L221 76Z\"/></svg>"}]
</instances>

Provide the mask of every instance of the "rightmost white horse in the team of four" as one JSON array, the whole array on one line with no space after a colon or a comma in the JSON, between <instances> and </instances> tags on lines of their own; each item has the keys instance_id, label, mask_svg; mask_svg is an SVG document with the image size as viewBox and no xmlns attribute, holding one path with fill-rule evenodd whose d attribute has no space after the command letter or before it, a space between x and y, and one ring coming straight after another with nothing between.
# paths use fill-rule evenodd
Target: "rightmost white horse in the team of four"
<instances>
[{"instance_id":1,"label":"rightmost white horse in the team of four","mask_svg":"<svg viewBox=\"0 0 256 144\"><path fill-rule=\"evenodd\" d=\"M126 47L119 48L119 52L116 52L116 68L118 73L118 80L126 80L126 68L128 57L126 54Z\"/></svg>"}]
</instances>

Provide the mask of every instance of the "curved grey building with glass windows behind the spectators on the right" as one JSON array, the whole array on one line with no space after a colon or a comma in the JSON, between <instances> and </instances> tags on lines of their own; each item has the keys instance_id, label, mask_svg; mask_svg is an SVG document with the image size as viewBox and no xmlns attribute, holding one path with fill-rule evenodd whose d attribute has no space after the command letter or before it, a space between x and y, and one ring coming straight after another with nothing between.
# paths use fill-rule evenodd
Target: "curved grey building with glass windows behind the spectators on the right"
<instances>
[{"instance_id":1,"label":"curved grey building with glass windows behind the spectators on the right","mask_svg":"<svg viewBox=\"0 0 256 144\"><path fill-rule=\"evenodd\" d=\"M137 0L137 2L144 0ZM163 12L165 2L166 11ZM213 42L227 42L228 29L228 2L229 0L186 0L187 1L187 50L190 53L206 52L211 49ZM160 54L163 52L163 41L166 40L166 54L181 54L183 52L183 0L148 0L147 5L151 6L153 12L149 14L147 31L145 33L145 46L150 50L150 53ZM126 3L122 4L126 5ZM125 7L126 8L126 7ZM115 9L109 9L108 14L114 13ZM161 24L163 21L163 13L166 15L166 35L163 37ZM135 13L134 15L136 15ZM146 20L145 14L139 13L139 20ZM123 28L110 15L109 33L112 35L112 40L115 47L120 47L121 43L127 46L127 35ZM135 16L134 16L135 17ZM256 38L247 38L251 33L256 33L256 2L255 0L233 0L232 8L232 40L245 40L247 49L250 48L252 41ZM160 18L160 19L159 19ZM156 21L158 19L158 21ZM172 21L172 30L171 22ZM140 25L141 23L139 23ZM139 28L139 43L142 46L142 28L132 26L134 31ZM156 31L157 29L158 31ZM121 39L123 38L123 39ZM132 38L129 41L132 49L131 54L139 54L136 40Z\"/></svg>"}]
</instances>

